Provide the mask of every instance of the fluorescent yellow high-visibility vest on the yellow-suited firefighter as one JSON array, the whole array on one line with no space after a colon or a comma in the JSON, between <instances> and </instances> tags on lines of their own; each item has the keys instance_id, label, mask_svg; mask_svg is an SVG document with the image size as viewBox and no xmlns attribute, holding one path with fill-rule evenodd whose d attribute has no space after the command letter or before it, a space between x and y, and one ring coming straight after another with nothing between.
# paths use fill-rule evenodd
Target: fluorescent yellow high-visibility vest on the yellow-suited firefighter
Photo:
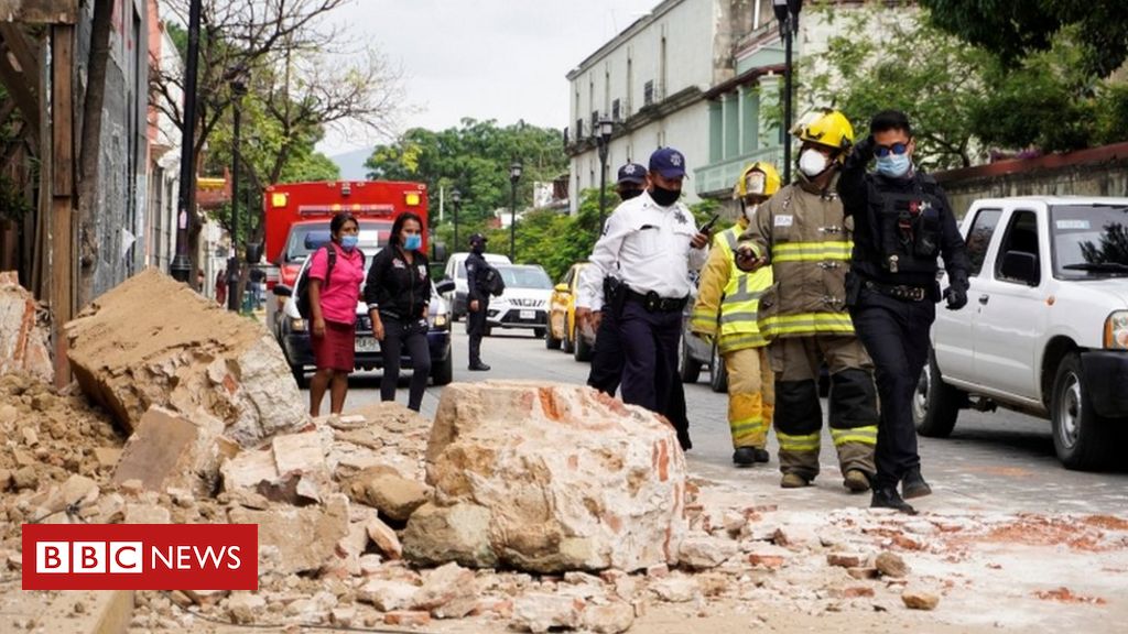
<instances>
[{"instance_id":1,"label":"fluorescent yellow high-visibility vest on the yellow-suited firefighter","mask_svg":"<svg viewBox=\"0 0 1128 634\"><path fill-rule=\"evenodd\" d=\"M716 248L724 252L725 259L732 267L729 272L729 283L724 287L721 299L720 334L717 347L722 353L746 347L767 345L767 340L760 333L758 312L760 296L772 285L772 267L764 266L752 273L744 273L737 267L733 252L740 239L742 229L739 224L721 234L715 241Z\"/></svg>"}]
</instances>

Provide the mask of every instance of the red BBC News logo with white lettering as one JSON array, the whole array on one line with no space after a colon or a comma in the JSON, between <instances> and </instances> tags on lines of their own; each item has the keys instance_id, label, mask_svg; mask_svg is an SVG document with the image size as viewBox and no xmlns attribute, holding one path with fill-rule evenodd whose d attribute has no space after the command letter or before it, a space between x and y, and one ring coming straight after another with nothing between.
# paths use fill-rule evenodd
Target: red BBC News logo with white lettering
<instances>
[{"instance_id":1,"label":"red BBC News logo with white lettering","mask_svg":"<svg viewBox=\"0 0 1128 634\"><path fill-rule=\"evenodd\" d=\"M257 590L258 526L23 526L24 590Z\"/></svg>"}]
</instances>

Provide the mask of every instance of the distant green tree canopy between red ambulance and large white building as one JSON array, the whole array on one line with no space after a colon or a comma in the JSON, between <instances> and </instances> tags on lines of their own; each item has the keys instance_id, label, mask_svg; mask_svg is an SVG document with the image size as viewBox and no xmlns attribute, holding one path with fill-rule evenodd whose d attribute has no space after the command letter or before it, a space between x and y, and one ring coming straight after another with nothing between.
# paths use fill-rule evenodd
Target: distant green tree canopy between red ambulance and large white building
<instances>
[{"instance_id":1,"label":"distant green tree canopy between red ambulance and large white building","mask_svg":"<svg viewBox=\"0 0 1128 634\"><path fill-rule=\"evenodd\" d=\"M462 196L459 219L483 222L495 209L510 206L509 167L521 161L518 206L532 196L535 182L555 180L567 171L561 133L518 123L497 126L494 121L464 118L458 127L439 132L414 127L395 143L377 146L364 164L369 178L421 180L431 192L458 190ZM459 235L462 234L461 227Z\"/></svg>"}]
</instances>

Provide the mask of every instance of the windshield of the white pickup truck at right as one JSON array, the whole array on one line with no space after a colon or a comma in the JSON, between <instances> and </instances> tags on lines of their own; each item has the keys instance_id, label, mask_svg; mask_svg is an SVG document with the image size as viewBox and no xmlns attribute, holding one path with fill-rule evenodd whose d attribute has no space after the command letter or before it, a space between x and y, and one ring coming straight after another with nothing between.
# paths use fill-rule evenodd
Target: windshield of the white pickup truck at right
<instances>
[{"instance_id":1,"label":"windshield of the white pickup truck at right","mask_svg":"<svg viewBox=\"0 0 1128 634\"><path fill-rule=\"evenodd\" d=\"M1055 205L1050 230L1056 278L1128 275L1128 205Z\"/></svg>"}]
</instances>

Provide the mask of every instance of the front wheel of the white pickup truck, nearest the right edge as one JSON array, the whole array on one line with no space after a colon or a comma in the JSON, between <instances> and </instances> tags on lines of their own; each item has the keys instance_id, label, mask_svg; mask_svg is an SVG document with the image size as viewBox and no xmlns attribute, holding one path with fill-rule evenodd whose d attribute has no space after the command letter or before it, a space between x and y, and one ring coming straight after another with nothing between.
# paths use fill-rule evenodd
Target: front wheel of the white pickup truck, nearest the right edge
<instances>
[{"instance_id":1,"label":"front wheel of the white pickup truck, nearest the right edge","mask_svg":"<svg viewBox=\"0 0 1128 634\"><path fill-rule=\"evenodd\" d=\"M1070 352L1058 366L1050 397L1054 449L1067 469L1096 469L1109 463L1113 426L1089 399L1081 355Z\"/></svg>"}]
</instances>

